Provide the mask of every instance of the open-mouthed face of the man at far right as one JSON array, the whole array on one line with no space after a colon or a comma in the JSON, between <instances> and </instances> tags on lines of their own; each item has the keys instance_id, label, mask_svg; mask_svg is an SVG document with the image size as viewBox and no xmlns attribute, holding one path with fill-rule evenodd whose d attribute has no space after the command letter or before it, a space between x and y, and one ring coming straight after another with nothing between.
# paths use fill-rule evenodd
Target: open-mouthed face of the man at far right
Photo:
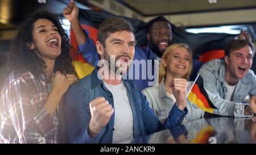
<instances>
[{"instance_id":1,"label":"open-mouthed face of the man at far right","mask_svg":"<svg viewBox=\"0 0 256 155\"><path fill-rule=\"evenodd\" d=\"M231 51L229 56L225 56L226 72L230 74L232 79L242 79L253 64L253 51L248 45L245 47Z\"/></svg>"}]
</instances>

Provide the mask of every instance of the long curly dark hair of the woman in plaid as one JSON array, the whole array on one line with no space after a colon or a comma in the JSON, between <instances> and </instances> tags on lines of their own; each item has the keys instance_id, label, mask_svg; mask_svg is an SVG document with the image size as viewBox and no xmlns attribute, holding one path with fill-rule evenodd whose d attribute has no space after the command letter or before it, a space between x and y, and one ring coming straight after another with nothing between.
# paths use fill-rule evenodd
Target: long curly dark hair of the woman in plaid
<instances>
[{"instance_id":1,"label":"long curly dark hair of the woman in plaid","mask_svg":"<svg viewBox=\"0 0 256 155\"><path fill-rule=\"evenodd\" d=\"M32 43L33 24L38 19L48 19L57 27L57 31L61 36L61 54L55 60L55 68L53 72L59 70L62 73L75 73L72 65L72 58L69 51L72 49L69 44L67 33L61 26L59 18L51 12L36 10L31 16L22 23L11 46L9 56L10 70L29 70L32 74L38 75L46 68L46 63L40 59L36 53L28 47Z\"/></svg>"}]
</instances>

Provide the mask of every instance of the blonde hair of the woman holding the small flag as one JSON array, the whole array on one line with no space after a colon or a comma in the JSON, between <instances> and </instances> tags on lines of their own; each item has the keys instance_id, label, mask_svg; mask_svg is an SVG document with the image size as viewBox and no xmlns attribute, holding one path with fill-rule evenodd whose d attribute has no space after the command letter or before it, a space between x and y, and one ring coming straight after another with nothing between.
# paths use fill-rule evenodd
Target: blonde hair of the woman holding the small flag
<instances>
[{"instance_id":1,"label":"blonde hair of the woman holding the small flag","mask_svg":"<svg viewBox=\"0 0 256 155\"><path fill-rule=\"evenodd\" d=\"M191 74L191 71L192 71L192 51L191 49L188 47L187 44L183 44L183 43L175 43L175 44L172 44L170 47L168 47L166 49L166 51L164 51L163 53L163 56L162 56L162 60L163 58L165 60L167 60L168 56L171 55L172 51L174 51L174 49L176 48L179 48L179 47L183 47L185 49L187 49L188 53L189 53L189 57L190 57L190 62L189 62L189 69L188 69L188 72L182 77L182 78L185 78L185 79L189 79L189 76ZM163 78L166 77L166 67L163 66L163 63L161 62L160 64L160 68L159 68L159 83L162 81Z\"/></svg>"}]
</instances>

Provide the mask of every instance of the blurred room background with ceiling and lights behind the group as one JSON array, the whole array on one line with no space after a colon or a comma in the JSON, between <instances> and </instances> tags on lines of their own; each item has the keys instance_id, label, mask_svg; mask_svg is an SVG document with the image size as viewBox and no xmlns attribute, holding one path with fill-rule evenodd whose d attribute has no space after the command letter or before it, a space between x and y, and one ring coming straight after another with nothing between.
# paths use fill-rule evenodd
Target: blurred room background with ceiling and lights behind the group
<instances>
[{"instance_id":1,"label":"blurred room background with ceiling and lights behind the group","mask_svg":"<svg viewBox=\"0 0 256 155\"><path fill-rule=\"evenodd\" d=\"M6 62L11 41L23 22L35 9L62 16L69 0L0 0L0 89L6 78ZM175 26L193 33L238 34L246 30L255 45L256 0L77 0L80 9L107 11L148 22L164 15ZM63 19L69 32L68 20ZM256 71L256 60L252 69Z\"/></svg>"}]
</instances>

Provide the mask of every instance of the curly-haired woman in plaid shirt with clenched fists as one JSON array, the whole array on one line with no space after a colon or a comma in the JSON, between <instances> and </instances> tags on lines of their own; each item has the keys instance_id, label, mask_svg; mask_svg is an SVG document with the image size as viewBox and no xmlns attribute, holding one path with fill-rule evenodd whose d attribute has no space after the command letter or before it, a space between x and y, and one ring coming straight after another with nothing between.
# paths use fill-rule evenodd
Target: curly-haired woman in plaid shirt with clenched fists
<instances>
[{"instance_id":1,"label":"curly-haired woman in plaid shirt with clenched fists","mask_svg":"<svg viewBox=\"0 0 256 155\"><path fill-rule=\"evenodd\" d=\"M34 12L20 26L1 94L2 143L58 143L58 104L77 81L59 19Z\"/></svg>"}]
</instances>

